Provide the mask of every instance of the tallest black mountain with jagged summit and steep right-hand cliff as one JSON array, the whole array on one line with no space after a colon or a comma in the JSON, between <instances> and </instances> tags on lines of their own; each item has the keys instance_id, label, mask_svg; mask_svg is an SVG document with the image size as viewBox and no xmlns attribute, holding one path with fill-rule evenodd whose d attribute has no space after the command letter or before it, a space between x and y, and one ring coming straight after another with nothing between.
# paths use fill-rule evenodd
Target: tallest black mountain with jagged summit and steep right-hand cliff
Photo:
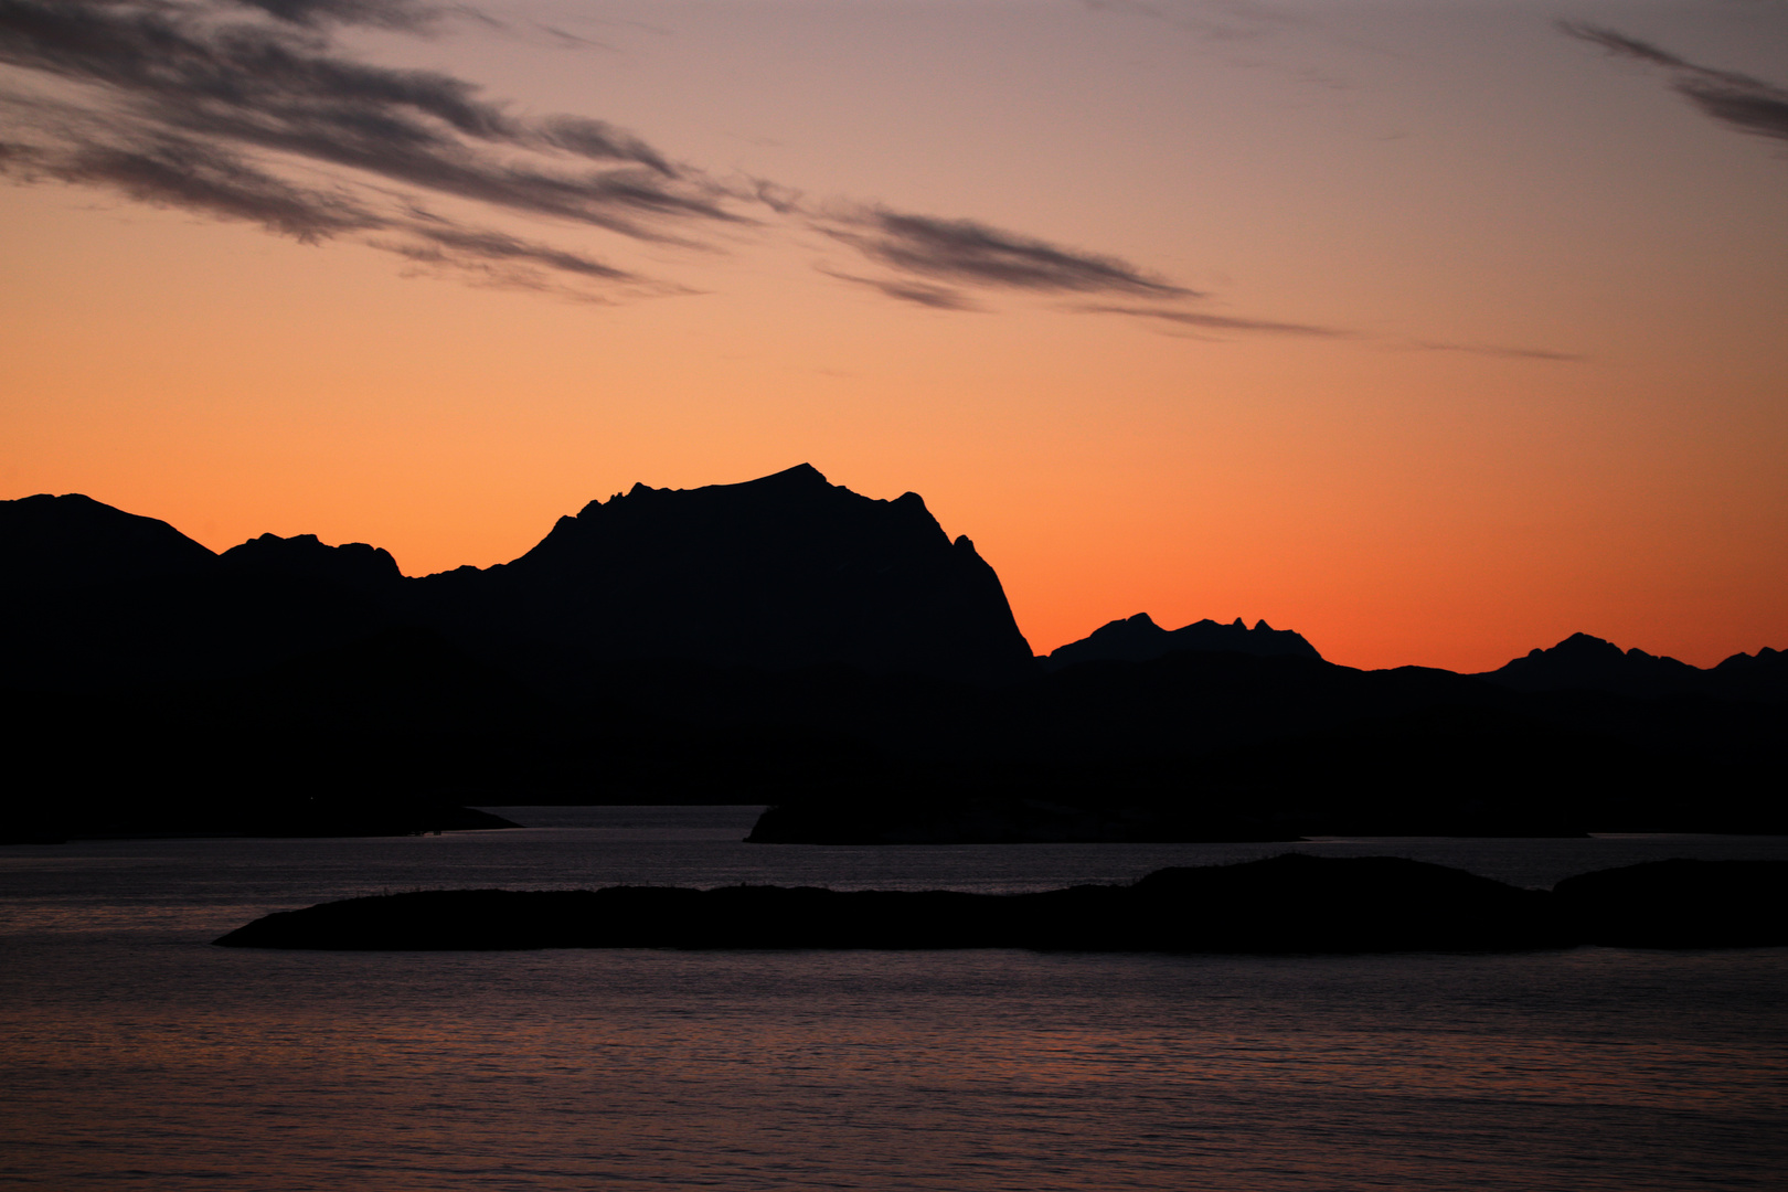
<instances>
[{"instance_id":1,"label":"tallest black mountain with jagged summit and steep right-hand cliff","mask_svg":"<svg viewBox=\"0 0 1788 1192\"><path fill-rule=\"evenodd\" d=\"M533 550L417 584L452 633L590 658L842 663L1016 676L1030 645L999 577L917 493L860 497L801 465L744 484L635 484L560 518Z\"/></svg>"}]
</instances>

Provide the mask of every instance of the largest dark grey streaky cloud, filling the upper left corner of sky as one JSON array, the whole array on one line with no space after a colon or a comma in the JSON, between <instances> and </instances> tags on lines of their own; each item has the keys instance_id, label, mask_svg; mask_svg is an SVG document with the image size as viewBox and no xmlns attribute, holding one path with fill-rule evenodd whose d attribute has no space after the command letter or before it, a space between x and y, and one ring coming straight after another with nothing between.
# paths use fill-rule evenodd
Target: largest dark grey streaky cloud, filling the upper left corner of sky
<instances>
[{"instance_id":1,"label":"largest dark grey streaky cloud, filling the upper left corner of sky","mask_svg":"<svg viewBox=\"0 0 1788 1192\"><path fill-rule=\"evenodd\" d=\"M463 79L343 55L329 34L418 30L442 13L411 0L0 0L0 66L57 84L0 93L0 172L472 264L479 281L485 266L526 264L679 290L429 214L429 200L651 243L749 222L733 191L624 129L520 118Z\"/></svg>"}]
</instances>

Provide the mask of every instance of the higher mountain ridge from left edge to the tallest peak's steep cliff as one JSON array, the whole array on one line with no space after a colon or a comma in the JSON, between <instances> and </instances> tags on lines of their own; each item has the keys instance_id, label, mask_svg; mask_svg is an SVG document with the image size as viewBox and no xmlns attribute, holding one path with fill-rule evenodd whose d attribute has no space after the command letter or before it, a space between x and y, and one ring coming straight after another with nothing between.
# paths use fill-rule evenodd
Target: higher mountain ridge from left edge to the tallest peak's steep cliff
<instances>
[{"instance_id":1,"label":"higher mountain ridge from left edge to the tallest peak's steep cliff","mask_svg":"<svg viewBox=\"0 0 1788 1192\"><path fill-rule=\"evenodd\" d=\"M261 534L222 556L88 497L0 502L14 686L249 674L399 627L520 667L615 659L1030 672L999 577L917 493L860 497L801 465L744 484L637 484L490 568L404 577L386 550ZM72 597L70 597L72 593Z\"/></svg>"}]
</instances>

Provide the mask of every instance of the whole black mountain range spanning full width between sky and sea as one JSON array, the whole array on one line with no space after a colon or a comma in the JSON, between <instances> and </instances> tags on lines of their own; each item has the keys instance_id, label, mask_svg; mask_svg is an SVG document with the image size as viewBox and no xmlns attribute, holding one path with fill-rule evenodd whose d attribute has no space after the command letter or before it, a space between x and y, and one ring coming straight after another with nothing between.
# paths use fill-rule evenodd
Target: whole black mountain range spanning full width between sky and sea
<instances>
[{"instance_id":1,"label":"whole black mountain range spanning full width between sky and sea","mask_svg":"<svg viewBox=\"0 0 1788 1192\"><path fill-rule=\"evenodd\" d=\"M1032 658L924 502L803 465L635 486L522 558L404 577L0 502L0 838L397 831L467 802L771 802L760 840L1788 827L1788 658L1577 634L1482 674L1257 622Z\"/></svg>"}]
</instances>

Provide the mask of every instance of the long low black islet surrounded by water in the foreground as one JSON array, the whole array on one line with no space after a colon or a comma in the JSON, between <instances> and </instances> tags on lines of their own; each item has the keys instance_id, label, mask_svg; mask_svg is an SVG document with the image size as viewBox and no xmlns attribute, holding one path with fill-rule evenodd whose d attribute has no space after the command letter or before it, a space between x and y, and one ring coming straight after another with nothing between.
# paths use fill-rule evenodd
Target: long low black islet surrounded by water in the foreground
<instances>
[{"instance_id":1,"label":"long low black islet surrounded by water in the foreground","mask_svg":"<svg viewBox=\"0 0 1788 1192\"><path fill-rule=\"evenodd\" d=\"M224 947L1171 953L1522 951L1788 944L1788 863L1670 860L1518 890L1402 858L1284 854L1041 894L812 886L427 890L257 919Z\"/></svg>"}]
</instances>

